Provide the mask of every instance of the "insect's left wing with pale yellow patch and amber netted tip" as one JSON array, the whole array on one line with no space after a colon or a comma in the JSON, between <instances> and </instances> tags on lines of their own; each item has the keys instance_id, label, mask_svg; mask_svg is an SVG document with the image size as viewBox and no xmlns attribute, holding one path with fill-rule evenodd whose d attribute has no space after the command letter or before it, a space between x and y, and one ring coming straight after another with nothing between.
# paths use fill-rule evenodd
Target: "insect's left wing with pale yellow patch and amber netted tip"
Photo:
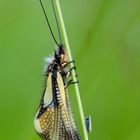
<instances>
[{"instance_id":1,"label":"insect's left wing with pale yellow patch and amber netted tip","mask_svg":"<svg viewBox=\"0 0 140 140\"><path fill-rule=\"evenodd\" d=\"M52 94L52 76L49 73L47 77L46 89L41 100L40 107L36 113L34 126L39 135L47 139L50 132L53 131L53 123L55 116L55 108L53 105L53 94ZM44 135L45 134L45 135Z\"/></svg>"}]
</instances>

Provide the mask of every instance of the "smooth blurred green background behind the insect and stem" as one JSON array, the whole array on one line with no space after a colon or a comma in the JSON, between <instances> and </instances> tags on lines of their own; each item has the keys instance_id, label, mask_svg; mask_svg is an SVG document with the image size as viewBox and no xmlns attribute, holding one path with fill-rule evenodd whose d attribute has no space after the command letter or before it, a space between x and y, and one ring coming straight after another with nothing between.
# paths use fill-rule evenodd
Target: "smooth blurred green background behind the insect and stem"
<instances>
[{"instance_id":1,"label":"smooth blurred green background behind the insect and stem","mask_svg":"<svg viewBox=\"0 0 140 140\"><path fill-rule=\"evenodd\" d=\"M140 1L60 0L89 140L140 140ZM48 15L55 34L51 5ZM43 58L54 51L38 0L0 0L0 140L39 140ZM80 132L73 86L70 96Z\"/></svg>"}]
</instances>

